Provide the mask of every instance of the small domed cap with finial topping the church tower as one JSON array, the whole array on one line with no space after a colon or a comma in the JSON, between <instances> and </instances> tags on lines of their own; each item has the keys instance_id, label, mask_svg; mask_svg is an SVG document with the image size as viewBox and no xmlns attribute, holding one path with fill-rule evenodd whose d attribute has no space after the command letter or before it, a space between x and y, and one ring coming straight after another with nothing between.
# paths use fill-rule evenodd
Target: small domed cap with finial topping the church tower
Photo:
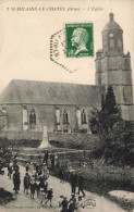
<instances>
[{"instance_id":1,"label":"small domed cap with finial topping the church tower","mask_svg":"<svg viewBox=\"0 0 134 212\"><path fill-rule=\"evenodd\" d=\"M110 13L109 14L109 17L110 17L110 20L106 24L106 26L103 27L103 30L107 30L107 29L109 30L109 29L112 29L112 28L119 28L119 29L121 29L121 26L117 22L114 22L113 13Z\"/></svg>"}]
</instances>

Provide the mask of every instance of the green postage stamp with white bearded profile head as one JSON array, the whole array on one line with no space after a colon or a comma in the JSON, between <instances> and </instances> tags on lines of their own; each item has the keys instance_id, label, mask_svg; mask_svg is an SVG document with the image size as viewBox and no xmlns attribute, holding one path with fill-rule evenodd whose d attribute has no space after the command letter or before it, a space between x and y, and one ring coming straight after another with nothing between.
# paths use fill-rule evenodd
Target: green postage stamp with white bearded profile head
<instances>
[{"instance_id":1,"label":"green postage stamp with white bearded profile head","mask_svg":"<svg viewBox=\"0 0 134 212\"><path fill-rule=\"evenodd\" d=\"M94 55L93 23L65 24L66 58Z\"/></svg>"}]
</instances>

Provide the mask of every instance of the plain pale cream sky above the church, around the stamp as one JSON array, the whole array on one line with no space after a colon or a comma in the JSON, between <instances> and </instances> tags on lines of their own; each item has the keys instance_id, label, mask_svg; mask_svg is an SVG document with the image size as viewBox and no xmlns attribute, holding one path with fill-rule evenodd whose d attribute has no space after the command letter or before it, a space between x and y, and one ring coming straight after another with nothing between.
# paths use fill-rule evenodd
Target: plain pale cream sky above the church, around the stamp
<instances>
[{"instance_id":1,"label":"plain pale cream sky above the church, around the stamp","mask_svg":"<svg viewBox=\"0 0 134 212\"><path fill-rule=\"evenodd\" d=\"M133 0L0 2L0 92L12 79L95 85L96 51L102 47L101 32L110 12L123 29L124 53L131 53L134 75L133 11ZM94 57L66 59L58 46L60 62L72 73L50 60L50 37L69 23L94 24Z\"/></svg>"}]
</instances>

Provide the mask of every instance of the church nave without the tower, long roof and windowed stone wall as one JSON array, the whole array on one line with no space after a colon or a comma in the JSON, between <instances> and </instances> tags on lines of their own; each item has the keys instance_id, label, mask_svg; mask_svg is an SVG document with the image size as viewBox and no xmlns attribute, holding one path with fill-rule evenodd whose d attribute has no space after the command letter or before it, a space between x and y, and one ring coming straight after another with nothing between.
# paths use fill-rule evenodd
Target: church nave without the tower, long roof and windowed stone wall
<instances>
[{"instance_id":1,"label":"church nave without the tower, long roof and windowed stone wall","mask_svg":"<svg viewBox=\"0 0 134 212\"><path fill-rule=\"evenodd\" d=\"M12 80L0 102L7 130L88 130L88 114L101 107L103 86Z\"/></svg>"}]
</instances>

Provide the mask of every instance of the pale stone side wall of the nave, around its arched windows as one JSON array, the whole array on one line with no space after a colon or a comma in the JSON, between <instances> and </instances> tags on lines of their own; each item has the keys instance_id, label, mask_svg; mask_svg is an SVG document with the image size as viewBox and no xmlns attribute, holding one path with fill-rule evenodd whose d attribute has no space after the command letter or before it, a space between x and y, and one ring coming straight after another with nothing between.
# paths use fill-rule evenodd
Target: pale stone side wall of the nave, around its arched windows
<instances>
[{"instance_id":1,"label":"pale stone side wall of the nave, around its arched windows","mask_svg":"<svg viewBox=\"0 0 134 212\"><path fill-rule=\"evenodd\" d=\"M60 127L56 122L57 107L60 110ZM7 104L8 113L8 130L31 130L42 132L44 125L48 126L48 132L76 132L77 129L88 130L88 114L93 107L76 107L76 105L42 105L42 104ZM32 110L35 110L36 124L29 124L29 114ZM68 112L69 124L63 123L64 109ZM86 123L77 124L76 112L80 110L81 114L84 110L86 114ZM24 115L25 112L25 115ZM27 119L26 119L27 114ZM27 122L25 122L27 120ZM25 126L25 124L26 126Z\"/></svg>"}]
</instances>

